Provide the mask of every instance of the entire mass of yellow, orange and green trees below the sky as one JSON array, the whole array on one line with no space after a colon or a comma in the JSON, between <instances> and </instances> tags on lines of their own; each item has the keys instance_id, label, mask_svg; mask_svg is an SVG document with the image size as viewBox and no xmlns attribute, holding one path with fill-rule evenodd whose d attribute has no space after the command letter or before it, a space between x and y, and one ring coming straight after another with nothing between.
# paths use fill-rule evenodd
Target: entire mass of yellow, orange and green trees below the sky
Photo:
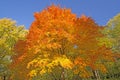
<instances>
[{"instance_id":1,"label":"entire mass of yellow, orange and green trees below the sky","mask_svg":"<svg viewBox=\"0 0 120 80\"><path fill-rule=\"evenodd\" d=\"M34 17L28 32L10 19L0 19L0 78L120 78L119 14L106 26L55 5Z\"/></svg>"}]
</instances>

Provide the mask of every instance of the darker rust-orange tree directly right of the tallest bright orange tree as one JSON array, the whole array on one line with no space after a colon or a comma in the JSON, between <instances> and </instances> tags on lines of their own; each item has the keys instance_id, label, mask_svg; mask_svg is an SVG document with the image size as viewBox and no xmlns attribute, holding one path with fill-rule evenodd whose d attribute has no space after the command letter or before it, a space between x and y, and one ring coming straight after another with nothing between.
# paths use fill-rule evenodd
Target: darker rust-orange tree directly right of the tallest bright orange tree
<instances>
[{"instance_id":1,"label":"darker rust-orange tree directly right of the tallest bright orange tree","mask_svg":"<svg viewBox=\"0 0 120 80\"><path fill-rule=\"evenodd\" d=\"M75 42L79 51L78 56L82 57L88 68L91 68L90 75L100 79L98 71L107 72L104 62L114 61L114 55L108 43L104 42L105 35L101 33L104 27L97 25L93 19L84 15L78 18L75 24L77 25Z\"/></svg>"}]
</instances>

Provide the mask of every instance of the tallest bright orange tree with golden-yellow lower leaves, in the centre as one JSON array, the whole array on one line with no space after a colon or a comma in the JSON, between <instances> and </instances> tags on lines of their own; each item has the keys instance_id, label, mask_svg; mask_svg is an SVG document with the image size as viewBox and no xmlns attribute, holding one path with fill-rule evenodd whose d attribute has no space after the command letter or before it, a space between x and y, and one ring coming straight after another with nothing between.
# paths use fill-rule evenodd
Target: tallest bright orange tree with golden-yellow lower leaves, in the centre
<instances>
[{"instance_id":1,"label":"tallest bright orange tree with golden-yellow lower leaves, in the centre","mask_svg":"<svg viewBox=\"0 0 120 80\"><path fill-rule=\"evenodd\" d=\"M28 76L50 73L52 68L59 67L63 72L60 77L64 78L64 68L72 68L72 61L67 54L74 48L72 41L76 16L69 9L61 9L54 5L40 13L35 13L34 16L35 21L30 27L26 40L27 47L25 48L28 51L22 55L31 59L25 60L27 62L25 67L29 69L33 67ZM19 50L16 46L17 49Z\"/></svg>"}]
</instances>

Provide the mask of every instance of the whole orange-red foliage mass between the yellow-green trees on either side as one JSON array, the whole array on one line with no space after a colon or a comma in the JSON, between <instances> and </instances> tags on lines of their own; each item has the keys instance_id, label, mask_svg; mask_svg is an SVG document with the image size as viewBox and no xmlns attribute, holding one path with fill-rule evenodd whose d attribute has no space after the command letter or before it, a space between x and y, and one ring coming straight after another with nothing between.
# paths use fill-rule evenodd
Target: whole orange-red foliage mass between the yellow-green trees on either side
<instances>
[{"instance_id":1,"label":"whole orange-red foliage mass between the yellow-green trees on either side","mask_svg":"<svg viewBox=\"0 0 120 80\"><path fill-rule=\"evenodd\" d=\"M13 58L17 80L39 76L43 80L45 75L53 77L49 80L66 80L69 72L72 74L69 80L79 80L90 77L92 71L106 72L102 60L113 61L113 55L105 44L100 44L104 36L100 32L102 27L93 19L84 15L77 18L70 9L55 5L35 13L34 17L26 40L15 46L19 55ZM94 75L99 77L97 73Z\"/></svg>"}]
</instances>

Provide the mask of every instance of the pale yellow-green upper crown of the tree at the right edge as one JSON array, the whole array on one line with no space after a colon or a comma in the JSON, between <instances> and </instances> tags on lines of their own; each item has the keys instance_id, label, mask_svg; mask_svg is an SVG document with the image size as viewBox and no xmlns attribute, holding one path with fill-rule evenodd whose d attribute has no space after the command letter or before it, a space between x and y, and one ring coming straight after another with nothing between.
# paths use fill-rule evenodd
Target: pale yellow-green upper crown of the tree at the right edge
<instances>
[{"instance_id":1,"label":"pale yellow-green upper crown of the tree at the right edge","mask_svg":"<svg viewBox=\"0 0 120 80\"><path fill-rule=\"evenodd\" d=\"M107 23L108 36L113 41L113 50L120 53L120 14L110 19Z\"/></svg>"}]
</instances>

